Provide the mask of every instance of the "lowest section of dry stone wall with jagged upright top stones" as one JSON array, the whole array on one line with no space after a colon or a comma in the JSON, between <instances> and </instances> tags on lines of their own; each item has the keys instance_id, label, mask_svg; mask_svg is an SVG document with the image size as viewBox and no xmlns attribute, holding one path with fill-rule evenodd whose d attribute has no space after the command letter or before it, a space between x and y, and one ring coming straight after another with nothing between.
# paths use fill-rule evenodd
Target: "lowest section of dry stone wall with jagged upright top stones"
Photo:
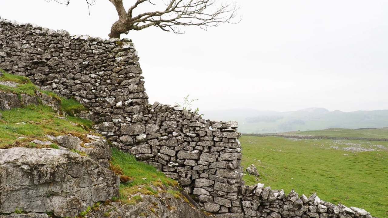
<instances>
[{"instance_id":1,"label":"lowest section of dry stone wall with jagged upright top stones","mask_svg":"<svg viewBox=\"0 0 388 218\"><path fill-rule=\"evenodd\" d=\"M286 195L284 190L271 190L264 184L244 185L240 189L244 218L372 218L364 209L343 204L337 206L321 200L316 194L299 196L294 190Z\"/></svg>"}]
</instances>

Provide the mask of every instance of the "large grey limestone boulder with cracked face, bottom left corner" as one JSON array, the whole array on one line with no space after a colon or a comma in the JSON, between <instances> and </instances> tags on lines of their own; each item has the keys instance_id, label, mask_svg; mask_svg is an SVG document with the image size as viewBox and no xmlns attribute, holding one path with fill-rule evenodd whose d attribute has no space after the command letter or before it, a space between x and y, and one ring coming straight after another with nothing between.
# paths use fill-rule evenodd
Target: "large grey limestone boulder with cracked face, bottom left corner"
<instances>
[{"instance_id":1,"label":"large grey limestone boulder with cracked face, bottom left corner","mask_svg":"<svg viewBox=\"0 0 388 218\"><path fill-rule=\"evenodd\" d=\"M74 217L118 196L119 177L86 156L60 149L0 149L0 213L53 211Z\"/></svg>"}]
</instances>

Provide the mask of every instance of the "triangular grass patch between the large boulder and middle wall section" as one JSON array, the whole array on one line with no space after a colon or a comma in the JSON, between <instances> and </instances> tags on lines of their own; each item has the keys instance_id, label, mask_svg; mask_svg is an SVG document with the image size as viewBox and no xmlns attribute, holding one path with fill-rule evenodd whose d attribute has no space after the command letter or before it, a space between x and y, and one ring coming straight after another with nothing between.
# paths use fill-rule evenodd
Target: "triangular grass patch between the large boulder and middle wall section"
<instances>
[{"instance_id":1,"label":"triangular grass patch between the large boulder and middle wall section","mask_svg":"<svg viewBox=\"0 0 388 218\"><path fill-rule=\"evenodd\" d=\"M120 201L126 204L135 204L141 201L141 198L139 199L140 196L128 197L139 192L145 195L156 195L158 192L150 187L151 184L161 189L166 187L174 189L178 186L175 180L166 177L164 173L156 170L154 166L139 162L133 155L118 151L115 148L111 150L112 166L120 166L123 175L132 178L132 182L120 184L120 197L118 198Z\"/></svg>"}]
</instances>

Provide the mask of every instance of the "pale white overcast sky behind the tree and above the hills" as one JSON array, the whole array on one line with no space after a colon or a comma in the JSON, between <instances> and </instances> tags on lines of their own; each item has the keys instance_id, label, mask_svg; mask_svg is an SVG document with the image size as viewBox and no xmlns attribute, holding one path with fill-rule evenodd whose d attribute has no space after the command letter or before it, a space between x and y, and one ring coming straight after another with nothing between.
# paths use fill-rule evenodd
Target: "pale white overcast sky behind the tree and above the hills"
<instances>
[{"instance_id":1,"label":"pale white overcast sky behind the tree and above the hills","mask_svg":"<svg viewBox=\"0 0 388 218\"><path fill-rule=\"evenodd\" d=\"M128 5L135 0L124 0ZM154 0L157 1L157 0ZM222 0L220 0L222 1ZM388 109L388 1L237 0L239 24L175 35L132 31L152 104L198 98L200 111ZM97 0L0 0L0 16L107 38L118 19Z\"/></svg>"}]
</instances>

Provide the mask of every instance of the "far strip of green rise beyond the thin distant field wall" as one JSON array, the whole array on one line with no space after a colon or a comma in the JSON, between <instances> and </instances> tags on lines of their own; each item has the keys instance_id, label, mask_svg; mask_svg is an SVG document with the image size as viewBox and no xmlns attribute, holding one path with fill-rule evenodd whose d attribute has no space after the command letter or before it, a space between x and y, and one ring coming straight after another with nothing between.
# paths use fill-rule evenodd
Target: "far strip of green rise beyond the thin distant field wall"
<instances>
[{"instance_id":1,"label":"far strip of green rise beyond the thin distant field wall","mask_svg":"<svg viewBox=\"0 0 388 218\"><path fill-rule=\"evenodd\" d=\"M330 128L325 130L314 131L293 131L279 133L282 135L314 135L314 136L330 136L330 137L361 137L361 138L388 138L388 128L376 129L341 129Z\"/></svg>"}]
</instances>

